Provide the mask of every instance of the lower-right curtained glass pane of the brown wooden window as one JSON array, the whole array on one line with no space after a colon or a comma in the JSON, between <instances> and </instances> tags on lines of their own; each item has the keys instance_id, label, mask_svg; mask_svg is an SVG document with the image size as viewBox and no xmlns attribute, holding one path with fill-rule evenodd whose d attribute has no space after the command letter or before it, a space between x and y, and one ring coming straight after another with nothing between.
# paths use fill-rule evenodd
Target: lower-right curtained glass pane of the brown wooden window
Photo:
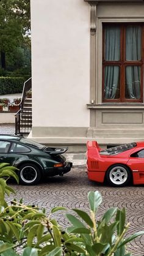
<instances>
[{"instance_id":1,"label":"lower-right curtained glass pane of the brown wooden window","mask_svg":"<svg viewBox=\"0 0 144 256\"><path fill-rule=\"evenodd\" d=\"M126 67L126 85L125 97L126 99L140 99L140 83L141 83L141 67L128 66Z\"/></svg>"}]
</instances>

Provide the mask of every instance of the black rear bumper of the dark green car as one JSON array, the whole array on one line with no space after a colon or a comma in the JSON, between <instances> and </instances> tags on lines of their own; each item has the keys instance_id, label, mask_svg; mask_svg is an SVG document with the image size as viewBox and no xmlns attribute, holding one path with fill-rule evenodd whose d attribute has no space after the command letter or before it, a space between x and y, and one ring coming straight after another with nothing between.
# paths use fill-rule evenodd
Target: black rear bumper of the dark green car
<instances>
[{"instance_id":1,"label":"black rear bumper of the dark green car","mask_svg":"<svg viewBox=\"0 0 144 256\"><path fill-rule=\"evenodd\" d=\"M73 163L66 162L65 167L55 167L55 168L47 168L45 170L46 176L55 176L55 175L63 175L68 173L71 170Z\"/></svg>"}]
</instances>

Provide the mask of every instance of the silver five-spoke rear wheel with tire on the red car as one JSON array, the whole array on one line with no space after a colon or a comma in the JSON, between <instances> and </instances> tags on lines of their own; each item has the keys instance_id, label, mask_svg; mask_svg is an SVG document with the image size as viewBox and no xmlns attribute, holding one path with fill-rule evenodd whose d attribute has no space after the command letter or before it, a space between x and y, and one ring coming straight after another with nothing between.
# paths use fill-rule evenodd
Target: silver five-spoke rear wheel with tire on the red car
<instances>
[{"instance_id":1,"label":"silver five-spoke rear wheel with tire on the red car","mask_svg":"<svg viewBox=\"0 0 144 256\"><path fill-rule=\"evenodd\" d=\"M131 171L122 164L112 165L112 167L107 170L106 180L110 186L124 187L128 185L131 180Z\"/></svg>"}]
</instances>

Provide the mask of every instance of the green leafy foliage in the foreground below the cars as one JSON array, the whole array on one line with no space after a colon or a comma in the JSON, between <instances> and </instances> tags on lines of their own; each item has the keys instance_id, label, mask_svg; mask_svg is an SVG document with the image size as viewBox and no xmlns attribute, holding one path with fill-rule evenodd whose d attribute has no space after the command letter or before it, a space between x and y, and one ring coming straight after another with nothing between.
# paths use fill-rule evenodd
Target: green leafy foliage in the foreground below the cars
<instances>
[{"instance_id":1,"label":"green leafy foliage in the foreground below the cars","mask_svg":"<svg viewBox=\"0 0 144 256\"><path fill-rule=\"evenodd\" d=\"M15 191L2 177L12 176L18 181L15 170L8 164L0 164L1 256L130 256L126 244L144 235L138 232L124 239L129 227L124 208L110 208L97 220L96 213L102 202L98 191L88 193L89 214L81 209L72 209L74 214L66 214L71 223L66 230L52 217L57 211L67 211L64 207L51 209L47 217L45 209L23 205L22 200L14 199L8 204L5 194Z\"/></svg>"}]
</instances>

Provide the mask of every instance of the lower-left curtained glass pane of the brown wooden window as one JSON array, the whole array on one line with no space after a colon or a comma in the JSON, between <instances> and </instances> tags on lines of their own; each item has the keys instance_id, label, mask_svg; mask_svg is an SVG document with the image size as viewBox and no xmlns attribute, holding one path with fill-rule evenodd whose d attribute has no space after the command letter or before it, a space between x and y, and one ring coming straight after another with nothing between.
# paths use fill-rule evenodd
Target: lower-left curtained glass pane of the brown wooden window
<instances>
[{"instance_id":1,"label":"lower-left curtained glass pane of the brown wooden window","mask_svg":"<svg viewBox=\"0 0 144 256\"><path fill-rule=\"evenodd\" d=\"M104 69L104 98L120 98L120 67L106 66Z\"/></svg>"}]
</instances>

